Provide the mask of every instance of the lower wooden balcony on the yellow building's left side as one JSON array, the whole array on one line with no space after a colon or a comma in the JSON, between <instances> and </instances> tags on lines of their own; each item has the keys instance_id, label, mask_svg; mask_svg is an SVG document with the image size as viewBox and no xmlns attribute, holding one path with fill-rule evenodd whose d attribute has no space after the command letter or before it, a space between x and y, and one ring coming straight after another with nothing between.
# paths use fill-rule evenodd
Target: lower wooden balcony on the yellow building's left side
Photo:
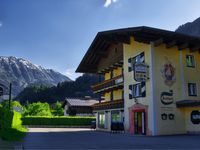
<instances>
[{"instance_id":1,"label":"lower wooden balcony on the yellow building's left side","mask_svg":"<svg viewBox=\"0 0 200 150\"><path fill-rule=\"evenodd\" d=\"M124 108L124 99L100 102L92 105L93 110L106 110L106 109L116 109Z\"/></svg>"}]
</instances>

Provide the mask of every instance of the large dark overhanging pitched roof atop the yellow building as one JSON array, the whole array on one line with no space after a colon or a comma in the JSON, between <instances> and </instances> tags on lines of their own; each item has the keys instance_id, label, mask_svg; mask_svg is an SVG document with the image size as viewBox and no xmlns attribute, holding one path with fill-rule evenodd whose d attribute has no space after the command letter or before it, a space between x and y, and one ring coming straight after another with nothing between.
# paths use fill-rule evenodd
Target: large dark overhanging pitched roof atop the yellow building
<instances>
[{"instance_id":1,"label":"large dark overhanging pitched roof atop the yellow building","mask_svg":"<svg viewBox=\"0 0 200 150\"><path fill-rule=\"evenodd\" d=\"M76 72L96 73L98 62L106 49L113 43L130 43L130 36L143 43L166 43L167 47L200 49L200 37L181 34L173 31L156 29L146 26L124 28L97 33L88 51L79 64Z\"/></svg>"}]
</instances>

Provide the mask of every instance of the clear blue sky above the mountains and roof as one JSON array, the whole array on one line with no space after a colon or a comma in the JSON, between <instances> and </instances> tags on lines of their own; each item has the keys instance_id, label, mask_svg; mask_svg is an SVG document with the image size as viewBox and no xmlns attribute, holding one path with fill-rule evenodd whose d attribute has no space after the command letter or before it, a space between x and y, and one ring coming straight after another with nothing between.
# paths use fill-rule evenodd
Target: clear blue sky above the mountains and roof
<instances>
[{"instance_id":1,"label":"clear blue sky above the mountains and roof","mask_svg":"<svg viewBox=\"0 0 200 150\"><path fill-rule=\"evenodd\" d=\"M72 79L98 31L175 30L200 17L199 0L0 0L0 56L22 57Z\"/></svg>"}]
</instances>

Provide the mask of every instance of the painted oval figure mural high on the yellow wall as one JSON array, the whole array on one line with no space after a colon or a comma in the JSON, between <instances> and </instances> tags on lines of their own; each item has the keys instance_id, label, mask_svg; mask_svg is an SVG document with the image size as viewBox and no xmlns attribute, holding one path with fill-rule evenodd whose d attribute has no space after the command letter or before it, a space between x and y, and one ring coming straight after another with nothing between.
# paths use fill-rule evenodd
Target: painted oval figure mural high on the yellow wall
<instances>
[{"instance_id":1,"label":"painted oval figure mural high on the yellow wall","mask_svg":"<svg viewBox=\"0 0 200 150\"><path fill-rule=\"evenodd\" d=\"M166 58L165 64L161 68L162 77L167 86L172 86L176 81L175 77L175 67L174 65Z\"/></svg>"}]
</instances>

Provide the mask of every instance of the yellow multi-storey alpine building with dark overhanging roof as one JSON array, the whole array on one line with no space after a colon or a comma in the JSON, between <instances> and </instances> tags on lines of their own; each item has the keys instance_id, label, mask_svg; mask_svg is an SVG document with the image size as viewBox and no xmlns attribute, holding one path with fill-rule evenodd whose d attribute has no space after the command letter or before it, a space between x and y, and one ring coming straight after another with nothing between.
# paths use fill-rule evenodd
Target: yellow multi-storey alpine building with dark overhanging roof
<instances>
[{"instance_id":1,"label":"yellow multi-storey alpine building with dark overhanging roof","mask_svg":"<svg viewBox=\"0 0 200 150\"><path fill-rule=\"evenodd\" d=\"M200 133L200 38L150 27L99 32L77 72L94 85L98 129L123 122L132 134Z\"/></svg>"}]
</instances>

